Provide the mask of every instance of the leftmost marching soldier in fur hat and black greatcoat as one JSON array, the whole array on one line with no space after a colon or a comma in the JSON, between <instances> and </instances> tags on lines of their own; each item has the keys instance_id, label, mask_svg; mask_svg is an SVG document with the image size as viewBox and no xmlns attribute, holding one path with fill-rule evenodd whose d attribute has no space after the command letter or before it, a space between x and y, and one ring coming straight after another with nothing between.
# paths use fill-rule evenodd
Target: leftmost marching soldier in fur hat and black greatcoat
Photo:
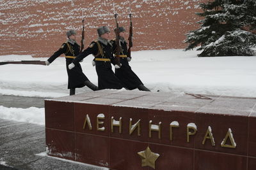
<instances>
[{"instance_id":1,"label":"leftmost marching soldier in fur hat and black greatcoat","mask_svg":"<svg viewBox=\"0 0 256 170\"><path fill-rule=\"evenodd\" d=\"M79 54L80 46L76 43L76 31L68 31L67 38L67 42L63 43L61 48L54 52L54 54L45 61L45 64L48 66L57 57L65 53L68 73L68 89L70 89L70 95L76 94L76 88L81 88L85 85L92 90L98 90L98 87L93 85L93 83L84 75L82 67L79 63L77 63L76 67L74 67L72 70L68 69L68 64L70 64L72 60L75 59Z\"/></svg>"}]
</instances>

